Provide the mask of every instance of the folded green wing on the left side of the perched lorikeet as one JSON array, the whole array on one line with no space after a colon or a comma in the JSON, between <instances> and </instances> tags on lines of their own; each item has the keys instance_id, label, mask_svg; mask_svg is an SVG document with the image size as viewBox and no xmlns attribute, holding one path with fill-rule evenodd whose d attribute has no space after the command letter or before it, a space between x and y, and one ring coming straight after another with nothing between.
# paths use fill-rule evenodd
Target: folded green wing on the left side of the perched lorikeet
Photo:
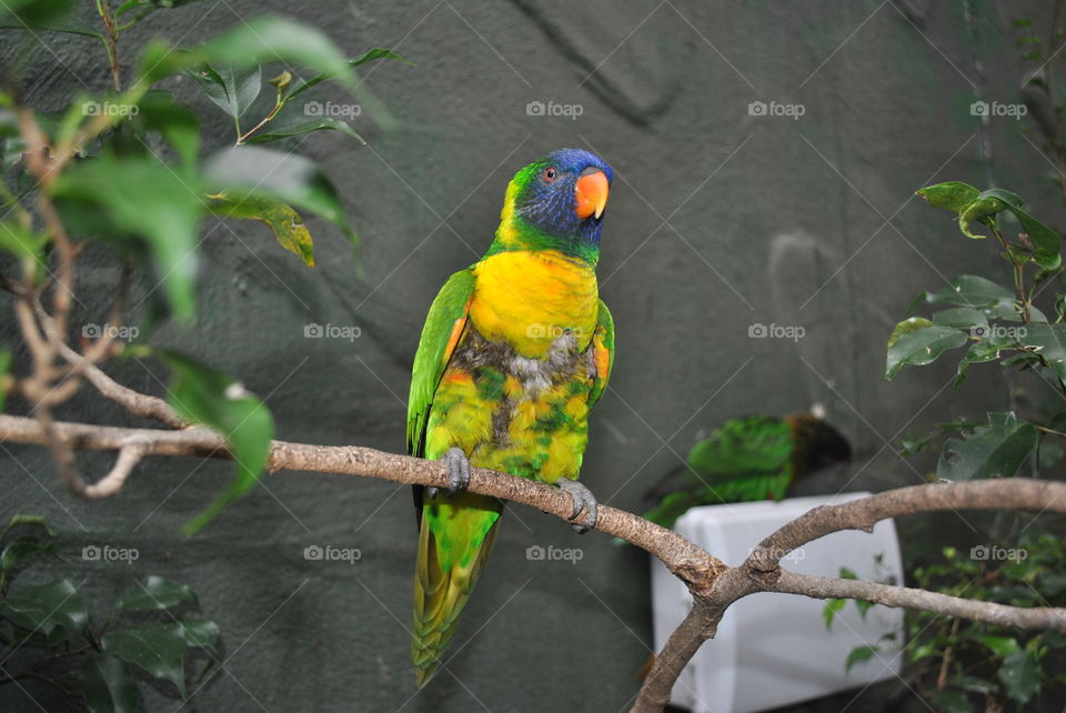
<instances>
[{"instance_id":1,"label":"folded green wing on the left side of the perched lorikeet","mask_svg":"<svg viewBox=\"0 0 1066 713\"><path fill-rule=\"evenodd\" d=\"M425 424L433 394L463 333L473 293L474 273L470 269L456 272L441 288L425 318L408 396L408 453L412 455L425 454Z\"/></svg>"}]
</instances>

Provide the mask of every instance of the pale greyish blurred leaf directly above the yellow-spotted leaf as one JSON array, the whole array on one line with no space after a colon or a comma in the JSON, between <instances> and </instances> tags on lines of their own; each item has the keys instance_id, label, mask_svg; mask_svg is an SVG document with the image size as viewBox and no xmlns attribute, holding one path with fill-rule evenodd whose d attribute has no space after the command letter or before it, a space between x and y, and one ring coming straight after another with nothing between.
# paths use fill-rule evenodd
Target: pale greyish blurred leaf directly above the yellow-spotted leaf
<instances>
[{"instance_id":1,"label":"pale greyish blurred leaf directly above the yellow-spotted leaf","mask_svg":"<svg viewBox=\"0 0 1066 713\"><path fill-rule=\"evenodd\" d=\"M341 208L336 189L319 168L293 153L259 147L239 147L214 154L204 164L208 180L233 199L271 197L303 208L340 228L353 241L358 238Z\"/></svg>"}]
</instances>

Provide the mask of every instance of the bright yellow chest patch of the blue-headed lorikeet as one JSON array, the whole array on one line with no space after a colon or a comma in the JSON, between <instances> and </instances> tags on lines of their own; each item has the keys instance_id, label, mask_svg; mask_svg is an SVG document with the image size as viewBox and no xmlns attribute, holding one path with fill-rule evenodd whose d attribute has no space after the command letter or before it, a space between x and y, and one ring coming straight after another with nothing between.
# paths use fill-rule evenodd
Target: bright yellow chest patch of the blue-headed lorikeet
<instances>
[{"instance_id":1,"label":"bright yellow chest patch of the blue-headed lorikeet","mask_svg":"<svg viewBox=\"0 0 1066 713\"><path fill-rule=\"evenodd\" d=\"M485 338L506 340L523 356L544 356L570 330L584 351L596 327L595 271L554 250L500 252L474 268L470 319Z\"/></svg>"}]
</instances>

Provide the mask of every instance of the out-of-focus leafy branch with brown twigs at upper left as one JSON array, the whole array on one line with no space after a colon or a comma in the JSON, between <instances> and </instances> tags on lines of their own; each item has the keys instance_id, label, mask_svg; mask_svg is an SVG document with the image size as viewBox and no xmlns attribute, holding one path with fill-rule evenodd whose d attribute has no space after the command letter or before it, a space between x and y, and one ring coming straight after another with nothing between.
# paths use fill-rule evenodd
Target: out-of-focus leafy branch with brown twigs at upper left
<instances>
[{"instance_id":1,"label":"out-of-focus leafy branch with brown twigs at upper left","mask_svg":"<svg viewBox=\"0 0 1066 713\"><path fill-rule=\"evenodd\" d=\"M86 94L57 114L34 111L21 100L21 82L4 77L0 92L0 141L3 165L16 172L22 189L0 181L0 201L9 218L0 220L0 257L16 261L19 277L0 262L0 285L14 297L19 330L31 354L29 374L10 372L9 350L0 350L0 403L13 394L24 399L49 435L49 448L67 485L87 499L118 492L144 455L142 443L123 445L112 470L89 484L78 472L72 450L59 436L53 409L70 399L97 363L123 351L112 332L122 327L130 278L140 272L161 288L151 297L145 338L160 317L189 323L195 313L200 227L205 217L238 218L265 223L276 241L314 264L314 244L300 211L339 228L353 245L341 199L322 171L291 152L243 145L268 143L321 129L363 140L344 122L324 118L275 128L271 122L306 90L332 81L351 89L354 68L378 60L403 58L373 49L346 58L313 28L276 17L240 23L191 48L150 41L123 89L119 38L162 7L188 2L158 0L95 3L103 32L72 14L70 2L19 0L6 3L0 27L89 34L104 40L114 91ZM286 69L271 84L273 108L242 132L240 117L262 88L264 63ZM18 63L16 63L17 66ZM293 72L311 79L295 80ZM237 145L201 157L197 113L157 84L170 77L191 76L208 99L234 119ZM158 147L157 138L162 142ZM121 279L107 325L109 333L89 340L78 352L69 347L72 285L77 261L93 243L109 245L122 262ZM191 521L192 533L259 481L273 435L273 420L261 400L234 379L192 358L152 349L147 339L129 349L137 356L155 356L173 374L171 403L188 423L217 429L237 458L230 488Z\"/></svg>"}]
</instances>

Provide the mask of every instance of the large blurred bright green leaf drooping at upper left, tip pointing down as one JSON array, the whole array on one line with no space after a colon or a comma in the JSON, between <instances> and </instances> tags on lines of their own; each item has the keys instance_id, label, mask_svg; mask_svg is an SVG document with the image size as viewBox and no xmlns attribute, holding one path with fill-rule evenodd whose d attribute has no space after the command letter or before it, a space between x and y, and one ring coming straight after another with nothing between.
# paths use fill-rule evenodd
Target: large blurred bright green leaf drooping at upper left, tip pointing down
<instances>
[{"instance_id":1,"label":"large blurred bright green leaf drooping at upper left, tip pointing down","mask_svg":"<svg viewBox=\"0 0 1066 713\"><path fill-rule=\"evenodd\" d=\"M132 244L151 252L171 309L184 321L195 309L202 192L191 174L180 177L154 159L108 154L74 163L57 187L69 224L120 244L130 244L130 234L137 237ZM100 213L107 222L101 222Z\"/></svg>"}]
</instances>

